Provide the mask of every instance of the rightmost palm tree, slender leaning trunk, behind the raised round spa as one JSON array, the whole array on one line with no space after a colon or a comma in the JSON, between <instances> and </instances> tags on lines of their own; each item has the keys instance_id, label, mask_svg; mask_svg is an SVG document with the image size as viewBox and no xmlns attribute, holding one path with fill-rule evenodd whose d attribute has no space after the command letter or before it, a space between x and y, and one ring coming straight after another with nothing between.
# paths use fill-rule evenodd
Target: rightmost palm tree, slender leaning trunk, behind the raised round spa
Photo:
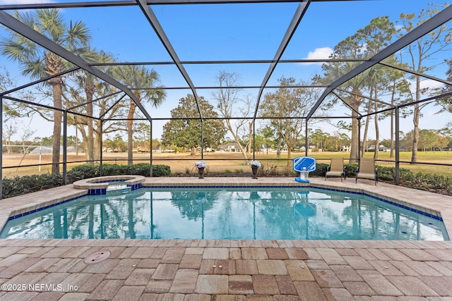
<instances>
[{"instance_id":1,"label":"rightmost palm tree, slender leaning trunk, behind the raised round spa","mask_svg":"<svg viewBox=\"0 0 452 301\"><path fill-rule=\"evenodd\" d=\"M161 86L155 86L160 82L160 76L155 70L148 70L147 68L135 65L119 66L114 70L116 78L133 90L133 93L138 98L138 101L147 100L152 102L153 106L157 107L165 101L166 92L162 90ZM146 90L145 88L157 88ZM133 114L135 113L136 104L130 99L129 113L127 116L127 164L133 164Z\"/></svg>"}]
</instances>

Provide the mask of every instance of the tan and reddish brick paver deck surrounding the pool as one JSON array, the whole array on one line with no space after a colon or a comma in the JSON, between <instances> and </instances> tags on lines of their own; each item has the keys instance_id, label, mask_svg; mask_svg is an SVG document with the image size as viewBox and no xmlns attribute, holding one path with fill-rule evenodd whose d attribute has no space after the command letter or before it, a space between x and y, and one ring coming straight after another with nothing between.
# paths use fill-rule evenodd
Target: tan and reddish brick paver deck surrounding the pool
<instances>
[{"instance_id":1,"label":"tan and reddish brick paver deck surrounding the pool","mask_svg":"<svg viewBox=\"0 0 452 301\"><path fill-rule=\"evenodd\" d=\"M161 184L169 180L174 182L171 178L146 179ZM182 180L178 178L177 183ZM268 184L270 180L260 178L251 183ZM232 180L205 178L200 185L219 181ZM383 193L439 212L451 233L451 197L383 183L375 187L365 180L357 185L352 180L311 182ZM66 186L3 200L1 223L11 212L27 207L27 199L28 204L39 207L39 197L47 204L54 192L60 198L74 193ZM83 262L88 255L102 250L111 253L104 261ZM4 239L0 240L0 283L0 300L8 301L450 301L452 242Z\"/></svg>"}]
</instances>

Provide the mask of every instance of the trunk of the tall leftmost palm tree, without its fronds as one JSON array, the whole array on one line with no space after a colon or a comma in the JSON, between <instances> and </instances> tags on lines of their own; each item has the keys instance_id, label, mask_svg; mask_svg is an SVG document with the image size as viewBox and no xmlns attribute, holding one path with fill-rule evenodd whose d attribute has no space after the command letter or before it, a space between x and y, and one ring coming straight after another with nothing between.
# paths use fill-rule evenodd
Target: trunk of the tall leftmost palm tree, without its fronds
<instances>
[{"instance_id":1,"label":"trunk of the tall leftmost palm tree, without its fronds","mask_svg":"<svg viewBox=\"0 0 452 301\"><path fill-rule=\"evenodd\" d=\"M52 85L54 92L54 108L61 109L61 84ZM52 173L59 173L59 147L61 145L61 119L63 113L54 111L54 135L52 141Z\"/></svg>"}]
</instances>

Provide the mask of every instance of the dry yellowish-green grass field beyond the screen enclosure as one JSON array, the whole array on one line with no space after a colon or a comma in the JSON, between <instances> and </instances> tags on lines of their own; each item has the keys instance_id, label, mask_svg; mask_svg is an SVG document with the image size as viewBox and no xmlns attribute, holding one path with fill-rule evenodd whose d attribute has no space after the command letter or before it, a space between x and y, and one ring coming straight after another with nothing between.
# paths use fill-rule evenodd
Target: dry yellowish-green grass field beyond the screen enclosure
<instances>
[{"instance_id":1,"label":"dry yellowish-green grass field beyond the screen enclosure","mask_svg":"<svg viewBox=\"0 0 452 301\"><path fill-rule=\"evenodd\" d=\"M331 157L343 157L345 158L345 163L348 161L350 154L345 152L310 152L309 156L313 156L317 159L318 163L329 163ZM304 153L294 153L292 152L292 159L296 156L304 156ZM369 152L366 157L373 157L374 153ZM287 153L281 155L280 160L276 159L275 153L270 154L255 154L255 158L264 165L268 166L278 166L278 170L284 171L292 166L287 167ZM108 164L126 164L127 154L126 153L110 153L103 154L103 160ZM141 153L133 154L134 163L148 163L150 159L150 154ZM410 161L411 152L400 152L400 161ZM49 164L52 160L51 154L42 154L41 163ZM68 154L68 162L71 161L83 161L85 160L85 154ZM153 153L153 164L165 164L171 167L172 173L196 173L196 168L194 166L195 161L201 160L201 154L196 154L196 156L191 156L188 153ZM389 153L379 153L379 160L377 165L381 166L394 166L394 159L389 158ZM251 168L246 165L246 161L243 159L242 154L239 153L204 153L204 161L208 163L208 171L218 172L218 173L241 173L251 172ZM452 152L418 152L418 163L419 164L405 164L401 163L400 167L408 168L411 171L417 173L436 173L441 176L452 177L452 166L439 166L439 165L429 165L429 164L452 164ZM3 166L3 176L13 177L13 176L25 176L31 174L48 173L51 171L50 165L41 166L39 171L38 166L26 166L19 168L7 168L8 166L24 166L39 164L40 158L39 154L27 154L23 157L22 154L3 154L2 159ZM81 163L69 163L68 169ZM292 161L289 162L290 164ZM424 163L424 164L420 164ZM60 166L60 171L62 171L62 164Z\"/></svg>"}]
</instances>

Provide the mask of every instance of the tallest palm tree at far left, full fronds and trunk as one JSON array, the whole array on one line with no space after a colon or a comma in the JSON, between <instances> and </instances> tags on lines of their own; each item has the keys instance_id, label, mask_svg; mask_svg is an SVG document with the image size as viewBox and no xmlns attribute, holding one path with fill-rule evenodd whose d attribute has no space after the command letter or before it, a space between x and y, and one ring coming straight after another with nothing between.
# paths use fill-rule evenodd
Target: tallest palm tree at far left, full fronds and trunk
<instances>
[{"instance_id":1,"label":"tallest palm tree at far left, full fronds and trunk","mask_svg":"<svg viewBox=\"0 0 452 301\"><path fill-rule=\"evenodd\" d=\"M69 49L73 53L79 53L87 47L90 41L88 28L82 22L66 25L57 8L37 9L36 11L16 13L18 20L32 27L37 32L45 35L53 42ZM17 32L10 32L10 36L1 39L1 53L13 61L18 61L22 67L22 74L30 78L44 78L56 75L69 68L69 62L62 59ZM63 76L57 76L47 80L46 85L52 87L53 106L61 109L61 88L64 85ZM54 111L52 173L59 172L59 147L61 140L61 118L59 110Z\"/></svg>"}]
</instances>

